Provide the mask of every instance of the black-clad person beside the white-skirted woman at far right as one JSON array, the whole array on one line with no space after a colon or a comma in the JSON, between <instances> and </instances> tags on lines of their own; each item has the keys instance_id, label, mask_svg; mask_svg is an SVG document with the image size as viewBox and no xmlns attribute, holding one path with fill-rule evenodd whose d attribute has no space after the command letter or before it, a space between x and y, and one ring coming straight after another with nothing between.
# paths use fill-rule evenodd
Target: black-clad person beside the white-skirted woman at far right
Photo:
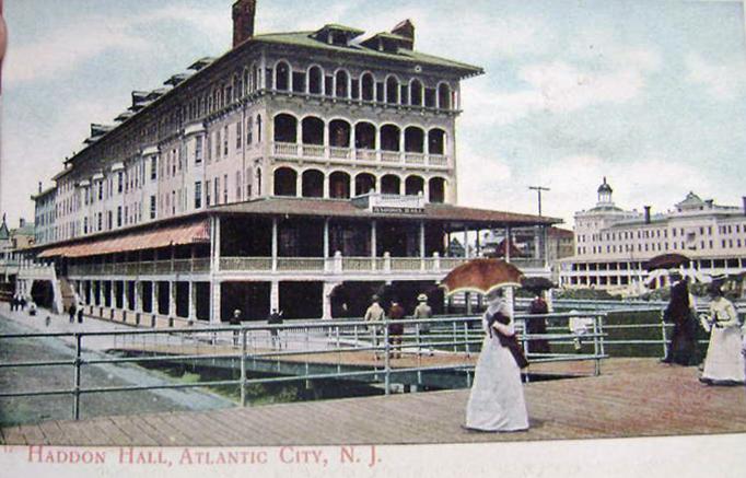
<instances>
[{"instance_id":1,"label":"black-clad person beside the white-skirted woman at far right","mask_svg":"<svg viewBox=\"0 0 746 478\"><path fill-rule=\"evenodd\" d=\"M663 313L663 320L674 324L668 353L661 360L664 363L676 363L684 366L697 364L697 323L693 313L693 300L689 293L689 284L678 273L671 275L675 281L671 288L671 300Z\"/></svg>"}]
</instances>

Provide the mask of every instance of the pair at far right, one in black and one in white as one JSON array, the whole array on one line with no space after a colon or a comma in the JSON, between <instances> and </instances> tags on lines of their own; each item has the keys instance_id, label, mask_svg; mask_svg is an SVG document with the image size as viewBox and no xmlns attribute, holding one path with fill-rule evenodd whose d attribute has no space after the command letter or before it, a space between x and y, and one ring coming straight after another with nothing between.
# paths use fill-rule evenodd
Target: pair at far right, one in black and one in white
<instances>
[{"instance_id":1,"label":"pair at far right, one in black and one in white","mask_svg":"<svg viewBox=\"0 0 746 478\"><path fill-rule=\"evenodd\" d=\"M678 273L671 277L674 285L663 318L674 324L674 330L668 353L662 362L697 365L697 329L701 326L710 334L710 341L700 381L712 385L745 383L746 326L742 327L738 313L723 295L721 285L716 281L709 285L709 311L698 317L688 281Z\"/></svg>"}]
</instances>

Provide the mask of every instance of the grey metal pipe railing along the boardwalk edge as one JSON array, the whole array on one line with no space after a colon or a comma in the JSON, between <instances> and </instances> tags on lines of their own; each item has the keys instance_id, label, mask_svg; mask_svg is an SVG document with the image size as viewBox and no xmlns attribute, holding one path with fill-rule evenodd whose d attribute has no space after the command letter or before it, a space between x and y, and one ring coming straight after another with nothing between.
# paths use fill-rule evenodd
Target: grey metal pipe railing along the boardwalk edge
<instances>
[{"instance_id":1,"label":"grey metal pipe railing along the boardwalk edge","mask_svg":"<svg viewBox=\"0 0 746 478\"><path fill-rule=\"evenodd\" d=\"M532 363L562 361L595 361L594 373L601 373L604 350L604 313L585 314L592 327L583 340L592 343L590 353L532 352L531 342L547 339L551 343L572 343L578 339L569 330L550 330L547 334L525 333L526 320L569 319L570 314L545 316L516 316L518 340L527 351ZM0 342L9 339L61 338L72 340L74 353L67 360L27 361L0 363L0 368L38 368L69 365L72 387L26 392L3 392L0 398L35 396L71 396L72 417L80 418L81 396L84 394L119 393L159 388L199 388L236 386L241 390L241 406L246 405L247 387L314 380L357 380L382 383L385 394L392 392L392 381L397 375L428 372L455 371L464 374L465 385L470 386L475 368L475 354L479 352L485 334L477 316L438 317L431 319L396 320L404 325L403 335L391 334L393 320L362 323L360 320L287 322L282 325L243 325L207 327L195 325L187 328L131 329L112 331L70 331L0 335ZM101 353L83 357L88 341L109 340L103 350L139 351L138 357L114 357ZM100 346L101 348L101 346ZM370 355L369 355L370 354ZM400 355L403 359L397 359ZM429 359L429 358L436 358ZM408 359L408 360L407 360ZM200 381L193 383L162 383L156 385L126 385L106 387L81 386L85 366L97 364L148 364L158 362L193 362L228 360L240 366L237 380ZM249 369L258 370L257 363L273 363L278 376L249 378ZM369 363L372 362L372 365ZM311 371L310 364L325 363L327 371ZM293 364L301 373L282 375L282 365ZM329 368L333 371L328 371ZM287 373L287 372L284 372Z\"/></svg>"}]
</instances>

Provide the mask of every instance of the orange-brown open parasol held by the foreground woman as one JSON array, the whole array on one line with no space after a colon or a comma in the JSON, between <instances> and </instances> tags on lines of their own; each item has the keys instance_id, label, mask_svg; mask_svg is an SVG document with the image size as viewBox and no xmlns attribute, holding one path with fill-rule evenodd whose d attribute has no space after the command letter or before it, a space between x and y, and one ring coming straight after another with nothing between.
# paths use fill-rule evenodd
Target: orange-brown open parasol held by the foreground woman
<instances>
[{"instance_id":1,"label":"orange-brown open parasol held by the foreground woman","mask_svg":"<svg viewBox=\"0 0 746 478\"><path fill-rule=\"evenodd\" d=\"M501 287L521 287L523 272L504 260L474 259L454 268L441 281L447 295L456 292L487 294Z\"/></svg>"}]
</instances>

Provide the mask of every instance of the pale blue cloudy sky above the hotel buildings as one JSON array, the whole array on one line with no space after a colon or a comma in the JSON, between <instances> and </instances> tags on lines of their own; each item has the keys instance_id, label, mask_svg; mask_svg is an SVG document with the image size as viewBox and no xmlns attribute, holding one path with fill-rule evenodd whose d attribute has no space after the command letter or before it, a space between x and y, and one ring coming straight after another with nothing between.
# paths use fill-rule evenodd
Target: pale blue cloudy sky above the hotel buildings
<instances>
[{"instance_id":1,"label":"pale blue cloudy sky above the hotel buildings","mask_svg":"<svg viewBox=\"0 0 746 478\"><path fill-rule=\"evenodd\" d=\"M113 123L132 90L230 48L233 0L9 0L0 209L30 196ZM410 19L416 49L482 67L462 83L463 206L537 210L572 226L604 176L626 209L661 212L693 190L746 195L741 1L258 0L257 33L341 23L366 34Z\"/></svg>"}]
</instances>

